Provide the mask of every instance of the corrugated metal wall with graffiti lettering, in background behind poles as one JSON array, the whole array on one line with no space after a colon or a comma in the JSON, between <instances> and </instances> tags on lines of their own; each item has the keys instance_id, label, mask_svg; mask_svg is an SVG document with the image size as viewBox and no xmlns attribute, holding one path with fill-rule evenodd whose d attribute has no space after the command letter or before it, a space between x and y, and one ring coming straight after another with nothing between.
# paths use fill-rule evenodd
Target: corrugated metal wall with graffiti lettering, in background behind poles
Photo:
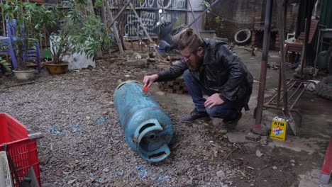
<instances>
[{"instance_id":1,"label":"corrugated metal wall with graffiti lettering, in background behind poles","mask_svg":"<svg viewBox=\"0 0 332 187\"><path fill-rule=\"evenodd\" d=\"M118 1L121 0L109 1L114 16L118 12L118 7L116 7ZM160 16L158 10L162 8L160 0L134 0L133 5L136 7L140 18L142 18L143 25L148 30L149 35L157 36L159 33L157 22ZM174 28L181 24L187 24L187 0L164 0L164 8L166 19L173 23ZM127 8L125 16L123 17L123 35L131 37L145 36L143 28L138 22L138 18L136 18L135 13L133 13L130 8Z\"/></svg>"}]
</instances>

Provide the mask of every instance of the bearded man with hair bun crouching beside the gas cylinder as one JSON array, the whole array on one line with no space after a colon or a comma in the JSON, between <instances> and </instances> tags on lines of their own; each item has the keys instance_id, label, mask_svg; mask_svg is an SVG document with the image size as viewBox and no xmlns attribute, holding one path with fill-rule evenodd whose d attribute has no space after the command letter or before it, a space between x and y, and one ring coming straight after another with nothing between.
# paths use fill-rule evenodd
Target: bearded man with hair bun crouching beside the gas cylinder
<instances>
[{"instance_id":1,"label":"bearded man with hair bun crouching beside the gas cylinder","mask_svg":"<svg viewBox=\"0 0 332 187\"><path fill-rule=\"evenodd\" d=\"M248 111L253 88L253 76L225 42L202 40L191 28L180 35L179 50L182 60L157 74L145 76L143 83L170 81L184 75L194 110L182 117L182 122L199 118L222 118L221 128L233 129ZM209 96L205 99L202 92Z\"/></svg>"}]
</instances>

